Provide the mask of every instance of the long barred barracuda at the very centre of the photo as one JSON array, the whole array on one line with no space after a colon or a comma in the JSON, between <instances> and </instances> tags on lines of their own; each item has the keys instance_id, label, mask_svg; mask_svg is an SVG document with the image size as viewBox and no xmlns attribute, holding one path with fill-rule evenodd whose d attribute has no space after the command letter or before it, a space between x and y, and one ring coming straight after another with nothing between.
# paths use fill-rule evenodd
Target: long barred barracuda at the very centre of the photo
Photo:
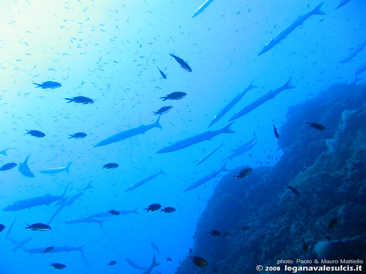
<instances>
[{"instance_id":1,"label":"long barred barracuda at the very centre of the photo","mask_svg":"<svg viewBox=\"0 0 366 274\"><path fill-rule=\"evenodd\" d=\"M156 153L167 153L172 151L177 151L186 147L189 147L191 145L203 142L205 140L210 140L215 136L218 136L222 133L235 133L232 129L230 129L231 125L233 123L228 124L222 129L214 130L214 131L206 131L204 133L194 135L192 137L185 138L183 140L180 140L175 143L171 143L170 145L167 145L166 147L162 148L161 150L158 150Z\"/></svg>"}]
</instances>

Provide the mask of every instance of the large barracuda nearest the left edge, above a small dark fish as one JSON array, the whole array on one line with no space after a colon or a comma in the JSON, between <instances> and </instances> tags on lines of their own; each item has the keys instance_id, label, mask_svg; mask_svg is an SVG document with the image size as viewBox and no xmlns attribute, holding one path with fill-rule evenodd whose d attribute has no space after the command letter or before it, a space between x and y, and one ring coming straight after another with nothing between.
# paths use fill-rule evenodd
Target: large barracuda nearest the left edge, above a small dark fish
<instances>
[{"instance_id":1,"label":"large barracuda nearest the left edge, above a small dark fish","mask_svg":"<svg viewBox=\"0 0 366 274\"><path fill-rule=\"evenodd\" d=\"M6 208L4 208L2 211L18 211L18 210L22 210L22 209L26 209L26 208L35 207L35 206L48 205L53 202L63 200L65 198L65 193L66 193L67 188L68 188L68 185L62 195L58 195L58 196L45 195L45 196L39 196L39 197L19 200L14 203L11 203Z\"/></svg>"}]
</instances>

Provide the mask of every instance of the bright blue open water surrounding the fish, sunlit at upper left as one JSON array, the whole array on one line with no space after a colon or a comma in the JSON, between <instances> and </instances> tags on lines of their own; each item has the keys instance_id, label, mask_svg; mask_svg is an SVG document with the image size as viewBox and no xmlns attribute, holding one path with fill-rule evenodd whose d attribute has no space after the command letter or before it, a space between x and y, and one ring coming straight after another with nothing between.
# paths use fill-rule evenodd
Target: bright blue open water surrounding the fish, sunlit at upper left
<instances>
[{"instance_id":1,"label":"bright blue open water surrounding the fish, sunlit at upper left","mask_svg":"<svg viewBox=\"0 0 366 274\"><path fill-rule=\"evenodd\" d=\"M184 192L196 180L219 169L230 150L257 136L251 157L227 163L234 169L274 165L281 157L273 124L285 122L289 106L312 98L330 85L352 82L354 71L364 64L366 50L347 63L340 63L365 41L366 3L351 0L336 11L340 0L328 0L322 10L296 28L280 44L257 57L265 43L298 16L320 1L213 1L202 14L191 18L203 3L194 1L2 1L0 40L0 150L11 147L0 164L28 165L35 178L22 176L18 167L1 172L0 208L20 199L47 194L61 195L86 190L67 206L46 232L25 230L25 223L46 223L55 204L0 213L6 226L0 233L0 273L54 273L50 262L63 263L65 273L142 273L131 268L125 257L149 266L155 252L159 273L173 274L193 245L196 222L211 196L217 179ZM169 56L188 61L189 73ZM158 66L167 79L161 78ZM365 78L365 72L360 75ZM219 110L250 82L249 91L212 130L250 101L276 89L292 78L296 89L285 90L256 110L237 119L236 134L222 134L191 147L156 154L171 142L203 133ZM32 83L60 82L57 89L35 88ZM163 102L174 91L187 96ZM66 104L64 98L86 96L94 104ZM345 94L345 96L347 96ZM163 129L154 128L107 146L94 148L119 131L150 124L153 111L171 105L161 117ZM40 130L43 138L25 135ZM211 128L210 128L211 129ZM84 139L69 134L85 132ZM219 146L212 157L196 166L206 153ZM268 154L270 157L268 157ZM47 168L73 161L70 173L41 174ZM116 169L102 169L106 163ZM141 187L124 192L143 177L159 175ZM224 174L224 173L223 173ZM174 207L174 213L143 210L152 203ZM138 209L137 214L109 217L103 229L96 223L63 224L108 209ZM32 236L23 248L85 245L80 252L28 254L4 235L16 217L9 238L13 242ZM159 246L160 253L151 247ZM171 262L166 258L170 257ZM111 267L111 260L118 263ZM154 273L155 270L152 272Z\"/></svg>"}]
</instances>

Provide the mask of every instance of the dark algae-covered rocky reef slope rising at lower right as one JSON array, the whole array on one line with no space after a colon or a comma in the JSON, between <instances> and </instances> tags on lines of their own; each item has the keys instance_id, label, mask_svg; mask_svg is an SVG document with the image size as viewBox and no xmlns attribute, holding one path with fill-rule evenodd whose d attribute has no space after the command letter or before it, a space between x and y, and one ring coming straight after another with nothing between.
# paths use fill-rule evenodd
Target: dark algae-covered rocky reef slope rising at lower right
<instances>
[{"instance_id":1,"label":"dark algae-covered rocky reef slope rising at lower right","mask_svg":"<svg viewBox=\"0 0 366 274\"><path fill-rule=\"evenodd\" d=\"M331 153L327 139L337 144ZM257 274L257 265L285 273L277 260L320 255L366 261L366 237L357 237L366 234L366 85L333 85L291 107L279 146L285 153L274 167L254 168L240 182L236 170L221 179L194 236L192 255L208 266L197 268L187 257L176 274ZM213 229L230 235L207 237Z\"/></svg>"}]
</instances>

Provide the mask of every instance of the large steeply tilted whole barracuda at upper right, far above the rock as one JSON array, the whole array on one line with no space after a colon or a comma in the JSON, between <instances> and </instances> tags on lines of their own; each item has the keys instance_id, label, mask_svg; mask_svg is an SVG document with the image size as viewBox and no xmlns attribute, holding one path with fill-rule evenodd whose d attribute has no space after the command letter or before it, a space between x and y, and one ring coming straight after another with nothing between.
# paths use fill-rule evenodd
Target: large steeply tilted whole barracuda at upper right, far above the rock
<instances>
[{"instance_id":1,"label":"large steeply tilted whole barracuda at upper right, far above the rock","mask_svg":"<svg viewBox=\"0 0 366 274\"><path fill-rule=\"evenodd\" d=\"M279 33L277 33L272 39L270 39L264 45L263 49L258 53L258 56L260 56L261 54L264 54L265 52L269 51L271 48L273 48L275 45L277 45L279 42L281 42L283 39L285 39L287 35L289 35L298 26L302 25L304 23L304 21L306 19L308 19L310 16L312 16L314 14L325 15L325 13L320 10L323 6L323 3L324 2L320 3L311 12L308 12L305 15L298 17L295 21L292 21L287 26L285 26Z\"/></svg>"}]
</instances>

